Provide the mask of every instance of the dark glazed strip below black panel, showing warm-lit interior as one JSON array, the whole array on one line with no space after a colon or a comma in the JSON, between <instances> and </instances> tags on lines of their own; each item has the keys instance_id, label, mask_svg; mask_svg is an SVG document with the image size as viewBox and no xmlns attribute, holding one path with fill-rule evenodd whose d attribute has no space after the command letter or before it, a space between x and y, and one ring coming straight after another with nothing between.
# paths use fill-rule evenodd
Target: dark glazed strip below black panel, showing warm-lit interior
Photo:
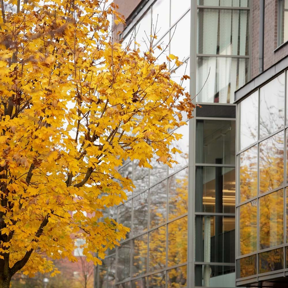
<instances>
[{"instance_id":1,"label":"dark glazed strip below black panel, showing warm-lit interior","mask_svg":"<svg viewBox=\"0 0 288 288\"><path fill-rule=\"evenodd\" d=\"M198 287L235 286L235 125L235 119L196 118L194 282Z\"/></svg>"}]
</instances>

